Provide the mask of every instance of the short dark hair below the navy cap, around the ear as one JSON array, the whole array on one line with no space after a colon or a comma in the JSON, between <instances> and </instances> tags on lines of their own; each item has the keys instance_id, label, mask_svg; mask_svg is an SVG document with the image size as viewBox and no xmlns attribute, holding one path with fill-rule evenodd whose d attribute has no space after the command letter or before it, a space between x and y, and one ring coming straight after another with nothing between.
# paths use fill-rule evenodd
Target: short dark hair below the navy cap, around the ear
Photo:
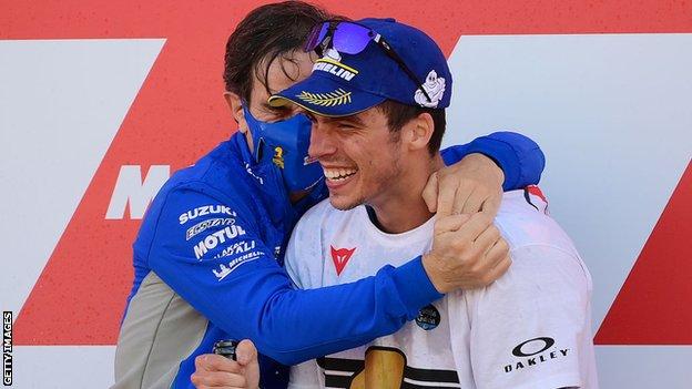
<instances>
[{"instance_id":1,"label":"short dark hair below the navy cap, around the ear","mask_svg":"<svg viewBox=\"0 0 692 389\"><path fill-rule=\"evenodd\" d=\"M430 136L430 142L428 142L428 152L430 155L435 155L439 152L442 144L442 136L445 135L445 127L447 126L445 109L406 105L394 100L385 100L385 102L377 105L377 108L387 116L387 124L391 132L401 131L406 123L410 122L414 117L418 117L421 113L430 114L430 116L432 116L435 130L432 131L432 136Z\"/></svg>"}]
</instances>

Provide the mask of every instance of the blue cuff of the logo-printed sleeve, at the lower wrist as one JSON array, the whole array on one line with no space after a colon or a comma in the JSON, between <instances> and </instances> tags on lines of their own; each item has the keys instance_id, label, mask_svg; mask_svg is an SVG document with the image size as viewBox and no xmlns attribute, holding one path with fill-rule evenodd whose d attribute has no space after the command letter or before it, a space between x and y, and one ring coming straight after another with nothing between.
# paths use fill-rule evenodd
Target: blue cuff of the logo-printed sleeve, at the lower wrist
<instances>
[{"instance_id":1,"label":"blue cuff of the logo-printed sleeve, at the lower wrist","mask_svg":"<svg viewBox=\"0 0 692 389\"><path fill-rule=\"evenodd\" d=\"M420 308L444 296L430 281L423 267L421 256L397 267L391 274L391 279L406 306L409 320L418 316Z\"/></svg>"}]
</instances>

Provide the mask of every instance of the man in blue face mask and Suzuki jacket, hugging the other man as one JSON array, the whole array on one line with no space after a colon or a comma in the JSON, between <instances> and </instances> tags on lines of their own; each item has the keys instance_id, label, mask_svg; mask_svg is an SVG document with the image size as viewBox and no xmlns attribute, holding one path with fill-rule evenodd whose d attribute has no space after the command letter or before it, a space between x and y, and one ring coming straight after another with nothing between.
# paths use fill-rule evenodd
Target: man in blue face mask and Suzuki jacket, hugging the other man
<instances>
[{"instance_id":1,"label":"man in blue face mask and Suzuki jacket, hugging the other man","mask_svg":"<svg viewBox=\"0 0 692 389\"><path fill-rule=\"evenodd\" d=\"M475 249L444 240L363 280L294 288L282 267L288 236L327 188L323 170L307 158L307 116L267 99L309 75L316 58L303 44L328 18L302 2L263 6L228 39L225 98L238 133L175 173L147 211L133 245L114 388L187 388L196 356L217 340L243 338L266 356L264 387L284 387L287 369L276 361L293 365L391 334L440 291L487 285L509 267L499 238ZM511 133L445 156L456 164L432 174L425 193L440 214L482 207L492 215L502 177L506 188L521 187L542 170L537 145ZM479 219L449 226L449 234L472 242L490 228L490 216Z\"/></svg>"}]
</instances>

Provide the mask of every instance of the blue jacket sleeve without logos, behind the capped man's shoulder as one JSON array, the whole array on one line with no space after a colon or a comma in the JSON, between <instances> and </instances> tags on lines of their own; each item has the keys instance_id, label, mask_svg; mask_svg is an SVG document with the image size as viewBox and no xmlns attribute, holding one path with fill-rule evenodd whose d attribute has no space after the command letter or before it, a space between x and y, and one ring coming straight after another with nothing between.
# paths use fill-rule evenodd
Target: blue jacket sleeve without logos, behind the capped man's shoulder
<instances>
[{"instance_id":1,"label":"blue jacket sleeve without logos, behind the capped man's shoulder","mask_svg":"<svg viewBox=\"0 0 692 389\"><path fill-rule=\"evenodd\" d=\"M492 158L505 172L505 191L537 185L546 167L546 156L531 139L509 131L493 132L470 143L441 151L447 165L461 161L468 154L481 153Z\"/></svg>"}]
</instances>

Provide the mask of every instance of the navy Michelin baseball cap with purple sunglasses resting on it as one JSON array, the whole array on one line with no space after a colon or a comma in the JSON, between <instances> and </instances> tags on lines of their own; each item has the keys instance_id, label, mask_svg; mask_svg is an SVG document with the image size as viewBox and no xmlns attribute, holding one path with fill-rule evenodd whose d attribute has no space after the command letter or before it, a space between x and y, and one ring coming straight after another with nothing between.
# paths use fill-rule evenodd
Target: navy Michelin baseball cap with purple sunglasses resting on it
<instances>
[{"instance_id":1,"label":"navy Michelin baseball cap with purple sunglasses resting on it","mask_svg":"<svg viewBox=\"0 0 692 389\"><path fill-rule=\"evenodd\" d=\"M333 21L316 27L306 49L313 49L311 39L319 44L324 38L332 44L324 48L311 75L272 95L271 105L295 103L324 116L354 115L387 99L414 106L449 106L447 59L425 32L394 19Z\"/></svg>"}]
</instances>

